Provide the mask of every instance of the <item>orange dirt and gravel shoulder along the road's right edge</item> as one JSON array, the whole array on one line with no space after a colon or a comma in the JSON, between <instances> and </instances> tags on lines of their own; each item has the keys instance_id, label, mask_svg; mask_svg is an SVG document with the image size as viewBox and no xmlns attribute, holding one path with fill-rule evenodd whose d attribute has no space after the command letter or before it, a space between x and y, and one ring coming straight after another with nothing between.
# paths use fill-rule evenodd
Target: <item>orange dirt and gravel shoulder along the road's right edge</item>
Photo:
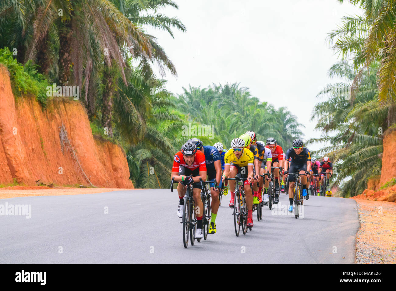
<instances>
[{"instance_id":1,"label":"orange dirt and gravel shoulder along the road's right edge","mask_svg":"<svg viewBox=\"0 0 396 291\"><path fill-rule=\"evenodd\" d=\"M396 203L355 200L360 221L355 263L396 263Z\"/></svg>"}]
</instances>

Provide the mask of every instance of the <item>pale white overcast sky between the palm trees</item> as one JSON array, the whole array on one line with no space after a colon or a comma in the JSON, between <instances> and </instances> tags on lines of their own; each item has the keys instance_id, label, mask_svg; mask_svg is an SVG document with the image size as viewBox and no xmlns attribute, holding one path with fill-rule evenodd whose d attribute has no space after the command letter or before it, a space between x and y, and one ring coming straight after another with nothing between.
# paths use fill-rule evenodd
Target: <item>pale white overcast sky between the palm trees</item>
<instances>
[{"instance_id":1,"label":"pale white overcast sky between the palm trees","mask_svg":"<svg viewBox=\"0 0 396 291\"><path fill-rule=\"evenodd\" d=\"M166 74L169 91L240 82L261 101L286 106L306 126L303 139L320 137L310 114L318 91L334 82L327 71L337 61L326 36L358 8L337 0L175 2L179 10L158 12L178 17L187 32L175 30L173 39L148 29L177 69L177 78Z\"/></svg>"}]
</instances>

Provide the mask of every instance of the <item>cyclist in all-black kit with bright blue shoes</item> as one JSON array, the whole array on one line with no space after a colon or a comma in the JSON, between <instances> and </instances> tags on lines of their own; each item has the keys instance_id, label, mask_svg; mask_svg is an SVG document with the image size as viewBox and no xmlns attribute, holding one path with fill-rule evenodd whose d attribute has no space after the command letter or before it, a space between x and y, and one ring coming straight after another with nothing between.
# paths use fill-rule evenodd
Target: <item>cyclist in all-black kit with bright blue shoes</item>
<instances>
[{"instance_id":1,"label":"cyclist in all-black kit with bright blue shoes","mask_svg":"<svg viewBox=\"0 0 396 291\"><path fill-rule=\"evenodd\" d=\"M309 171L311 169L311 153L308 148L303 147L303 141L301 139L295 139L293 141L293 147L289 148L286 152L286 160L285 160L285 172L284 176L287 178L288 176L288 166L289 166L289 158L291 157L290 162L290 173L295 173L298 171L300 174L307 174L307 176L301 176L301 184L305 188L303 188L303 196L307 196L308 187L309 187ZM293 192L294 192L294 184L296 181L296 175L289 176L289 202L290 207L289 211L293 212ZM307 196L307 198L309 195Z\"/></svg>"}]
</instances>

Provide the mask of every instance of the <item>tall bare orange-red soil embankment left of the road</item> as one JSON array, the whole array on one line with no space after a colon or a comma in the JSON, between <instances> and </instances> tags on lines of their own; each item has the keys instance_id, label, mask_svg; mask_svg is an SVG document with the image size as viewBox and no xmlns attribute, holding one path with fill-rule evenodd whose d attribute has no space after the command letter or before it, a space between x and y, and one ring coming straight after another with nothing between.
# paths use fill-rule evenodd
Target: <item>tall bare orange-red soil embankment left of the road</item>
<instances>
[{"instance_id":1,"label":"tall bare orange-red soil embankment left of the road","mask_svg":"<svg viewBox=\"0 0 396 291\"><path fill-rule=\"evenodd\" d=\"M133 188L120 146L95 139L78 101L54 99L46 108L34 97L15 99L8 70L0 65L0 184L83 184ZM59 137L64 124L81 167Z\"/></svg>"}]
</instances>

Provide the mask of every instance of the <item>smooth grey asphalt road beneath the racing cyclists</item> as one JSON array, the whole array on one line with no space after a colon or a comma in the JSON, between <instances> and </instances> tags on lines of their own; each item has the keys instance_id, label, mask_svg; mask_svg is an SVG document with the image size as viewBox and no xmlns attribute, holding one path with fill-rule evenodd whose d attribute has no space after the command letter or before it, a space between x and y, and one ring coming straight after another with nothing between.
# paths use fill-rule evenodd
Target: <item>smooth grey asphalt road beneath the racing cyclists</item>
<instances>
[{"instance_id":1,"label":"smooth grey asphalt road beneath the racing cyclists","mask_svg":"<svg viewBox=\"0 0 396 291\"><path fill-rule=\"evenodd\" d=\"M208 240L183 247L177 193L167 189L19 197L31 217L0 212L1 263L353 263L359 228L353 199L310 197L304 217L286 194L236 237L228 196ZM6 205L6 203L8 205ZM108 213L106 213L108 212ZM8 212L10 214L10 212ZM29 216L29 213L28 213Z\"/></svg>"}]
</instances>

